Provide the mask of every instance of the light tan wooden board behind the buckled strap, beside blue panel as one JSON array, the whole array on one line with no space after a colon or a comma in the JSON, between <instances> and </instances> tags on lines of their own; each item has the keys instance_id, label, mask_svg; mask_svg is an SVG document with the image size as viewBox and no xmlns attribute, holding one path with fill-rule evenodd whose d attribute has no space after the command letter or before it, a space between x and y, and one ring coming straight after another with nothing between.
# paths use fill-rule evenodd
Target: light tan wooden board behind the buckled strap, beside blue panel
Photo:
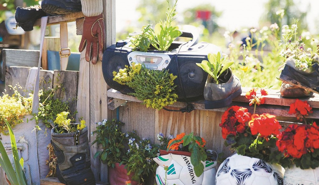
<instances>
[{"instance_id":1,"label":"light tan wooden board behind the buckled strap, beside blue panel","mask_svg":"<svg viewBox=\"0 0 319 185\"><path fill-rule=\"evenodd\" d=\"M48 53L47 51L60 51L60 38L59 37L44 37L41 67L42 69L48 69Z\"/></svg>"}]
</instances>

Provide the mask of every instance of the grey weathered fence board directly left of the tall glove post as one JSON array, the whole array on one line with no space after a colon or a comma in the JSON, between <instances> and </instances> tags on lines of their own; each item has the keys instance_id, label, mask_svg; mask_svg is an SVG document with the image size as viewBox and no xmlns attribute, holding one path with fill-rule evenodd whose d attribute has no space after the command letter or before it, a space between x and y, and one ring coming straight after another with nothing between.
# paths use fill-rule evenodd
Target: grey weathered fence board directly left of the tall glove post
<instances>
[{"instance_id":1,"label":"grey weathered fence board directly left of the tall glove post","mask_svg":"<svg viewBox=\"0 0 319 185\"><path fill-rule=\"evenodd\" d=\"M70 113L76 111L76 98L78 95L78 71L58 71L54 70L53 75L53 88L61 85L54 94L55 98L61 101L68 101Z\"/></svg>"}]
</instances>

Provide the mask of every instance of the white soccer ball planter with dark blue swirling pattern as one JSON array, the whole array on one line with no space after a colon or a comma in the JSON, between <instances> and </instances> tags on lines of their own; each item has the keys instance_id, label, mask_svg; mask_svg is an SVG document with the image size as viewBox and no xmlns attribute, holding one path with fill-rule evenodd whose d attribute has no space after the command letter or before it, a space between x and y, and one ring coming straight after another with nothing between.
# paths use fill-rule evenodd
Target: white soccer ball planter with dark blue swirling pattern
<instances>
[{"instance_id":1,"label":"white soccer ball planter with dark blue swirling pattern","mask_svg":"<svg viewBox=\"0 0 319 185\"><path fill-rule=\"evenodd\" d=\"M219 166L216 185L282 185L283 177L280 165L234 154Z\"/></svg>"}]
</instances>

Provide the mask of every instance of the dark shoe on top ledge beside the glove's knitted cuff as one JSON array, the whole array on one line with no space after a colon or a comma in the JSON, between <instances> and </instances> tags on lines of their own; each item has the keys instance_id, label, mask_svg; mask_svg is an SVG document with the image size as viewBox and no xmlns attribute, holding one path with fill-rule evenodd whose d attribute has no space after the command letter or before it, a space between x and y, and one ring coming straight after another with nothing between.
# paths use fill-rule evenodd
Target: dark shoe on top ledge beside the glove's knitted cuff
<instances>
[{"instance_id":1,"label":"dark shoe on top ledge beside the glove's knitted cuff","mask_svg":"<svg viewBox=\"0 0 319 185\"><path fill-rule=\"evenodd\" d=\"M82 11L80 0L42 0L41 7L44 12L50 15Z\"/></svg>"}]
</instances>

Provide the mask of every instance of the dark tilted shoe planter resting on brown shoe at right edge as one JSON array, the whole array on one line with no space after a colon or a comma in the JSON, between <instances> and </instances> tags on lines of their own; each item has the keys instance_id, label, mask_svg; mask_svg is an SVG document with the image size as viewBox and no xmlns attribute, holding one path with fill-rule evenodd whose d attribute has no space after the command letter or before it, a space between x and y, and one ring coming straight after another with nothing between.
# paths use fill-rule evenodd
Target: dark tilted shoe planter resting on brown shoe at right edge
<instances>
[{"instance_id":1,"label":"dark tilted shoe planter resting on brown shoe at right edge","mask_svg":"<svg viewBox=\"0 0 319 185\"><path fill-rule=\"evenodd\" d=\"M280 74L280 80L288 84L307 89L319 94L319 64L314 63L306 71L295 67L293 58L286 61L285 68Z\"/></svg>"}]
</instances>

